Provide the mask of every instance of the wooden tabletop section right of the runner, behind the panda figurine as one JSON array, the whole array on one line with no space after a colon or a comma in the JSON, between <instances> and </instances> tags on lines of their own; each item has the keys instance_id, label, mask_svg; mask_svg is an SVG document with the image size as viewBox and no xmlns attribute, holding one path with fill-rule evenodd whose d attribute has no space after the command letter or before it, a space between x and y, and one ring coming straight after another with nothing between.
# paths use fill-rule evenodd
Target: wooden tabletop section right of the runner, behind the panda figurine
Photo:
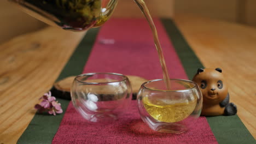
<instances>
[{"instance_id":1,"label":"wooden tabletop section right of the runner, behind the panda figurine","mask_svg":"<svg viewBox=\"0 0 256 144\"><path fill-rule=\"evenodd\" d=\"M256 139L256 28L177 15L176 24L207 68L222 68L230 101Z\"/></svg>"}]
</instances>

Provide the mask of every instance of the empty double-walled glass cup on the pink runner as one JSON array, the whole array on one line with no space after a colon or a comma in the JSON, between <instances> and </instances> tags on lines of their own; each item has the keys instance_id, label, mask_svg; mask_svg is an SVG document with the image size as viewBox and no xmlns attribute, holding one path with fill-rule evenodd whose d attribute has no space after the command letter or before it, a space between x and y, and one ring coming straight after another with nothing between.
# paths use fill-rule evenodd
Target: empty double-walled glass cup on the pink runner
<instances>
[{"instance_id":1,"label":"empty double-walled glass cup on the pink runner","mask_svg":"<svg viewBox=\"0 0 256 144\"><path fill-rule=\"evenodd\" d=\"M113 122L131 102L129 79L116 73L88 73L75 77L71 98L89 122Z\"/></svg>"}]
</instances>

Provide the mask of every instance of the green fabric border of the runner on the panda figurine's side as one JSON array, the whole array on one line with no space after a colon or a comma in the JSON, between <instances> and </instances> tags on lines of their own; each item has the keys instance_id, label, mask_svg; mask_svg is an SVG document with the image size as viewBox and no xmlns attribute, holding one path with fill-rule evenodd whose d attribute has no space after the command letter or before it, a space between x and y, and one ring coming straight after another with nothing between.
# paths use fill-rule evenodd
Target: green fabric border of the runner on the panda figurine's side
<instances>
[{"instance_id":1,"label":"green fabric border of the runner on the panda figurine's side","mask_svg":"<svg viewBox=\"0 0 256 144\"><path fill-rule=\"evenodd\" d=\"M181 59L185 72L189 79L192 80L197 69L203 68L202 63L196 57L174 22L171 19L161 19L161 22L172 41L179 59ZM256 142L237 115L206 118L218 143L251 144Z\"/></svg>"}]
</instances>

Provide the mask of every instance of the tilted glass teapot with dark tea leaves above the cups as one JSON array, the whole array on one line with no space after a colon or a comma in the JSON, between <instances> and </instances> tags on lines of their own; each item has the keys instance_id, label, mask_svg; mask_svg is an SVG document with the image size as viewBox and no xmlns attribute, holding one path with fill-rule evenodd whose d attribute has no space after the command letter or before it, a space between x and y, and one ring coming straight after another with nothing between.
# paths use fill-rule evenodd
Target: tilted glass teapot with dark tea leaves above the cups
<instances>
[{"instance_id":1,"label":"tilted glass teapot with dark tea leaves above the cups","mask_svg":"<svg viewBox=\"0 0 256 144\"><path fill-rule=\"evenodd\" d=\"M27 14L71 31L85 31L106 22L118 0L9 0Z\"/></svg>"}]
</instances>

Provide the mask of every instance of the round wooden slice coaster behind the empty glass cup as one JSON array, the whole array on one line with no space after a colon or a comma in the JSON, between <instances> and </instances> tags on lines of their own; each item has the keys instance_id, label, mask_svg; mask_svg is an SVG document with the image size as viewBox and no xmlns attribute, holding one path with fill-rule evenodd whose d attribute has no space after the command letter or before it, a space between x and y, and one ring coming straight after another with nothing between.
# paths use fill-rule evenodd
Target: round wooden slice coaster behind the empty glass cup
<instances>
[{"instance_id":1,"label":"round wooden slice coaster behind the empty glass cup","mask_svg":"<svg viewBox=\"0 0 256 144\"><path fill-rule=\"evenodd\" d=\"M131 86L132 86L132 99L136 99L139 88L141 87L142 83L146 82L147 80L142 77L133 76L133 75L127 75L127 77L130 80ZM63 80L55 82L53 88L51 88L51 94L57 98L71 100L70 91L71 91L71 86L72 86L74 79L75 79L75 76L69 76ZM87 80L87 81L88 82L97 82L97 81L102 82L102 80L100 80L100 79L99 80ZM112 80L107 79L107 81L110 82ZM108 94L110 90L111 89L105 87L105 88L98 89L97 92L102 93L102 94Z\"/></svg>"}]
</instances>

